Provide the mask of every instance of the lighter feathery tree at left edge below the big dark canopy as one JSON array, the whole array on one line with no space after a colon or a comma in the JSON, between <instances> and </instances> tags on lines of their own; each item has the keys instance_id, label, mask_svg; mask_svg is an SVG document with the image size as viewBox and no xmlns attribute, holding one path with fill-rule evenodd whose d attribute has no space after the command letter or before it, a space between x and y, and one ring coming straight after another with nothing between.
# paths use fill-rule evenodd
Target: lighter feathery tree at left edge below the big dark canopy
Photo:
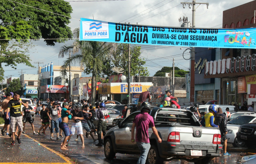
<instances>
[{"instance_id":1,"label":"lighter feathery tree at left edge below the big dark canopy","mask_svg":"<svg viewBox=\"0 0 256 164\"><path fill-rule=\"evenodd\" d=\"M34 67L30 63L30 57L27 55L34 45L30 43L19 43L12 41L11 43L4 43L0 49L0 81L4 80L4 66L11 66L16 69L17 64L24 63L29 67Z\"/></svg>"}]
</instances>

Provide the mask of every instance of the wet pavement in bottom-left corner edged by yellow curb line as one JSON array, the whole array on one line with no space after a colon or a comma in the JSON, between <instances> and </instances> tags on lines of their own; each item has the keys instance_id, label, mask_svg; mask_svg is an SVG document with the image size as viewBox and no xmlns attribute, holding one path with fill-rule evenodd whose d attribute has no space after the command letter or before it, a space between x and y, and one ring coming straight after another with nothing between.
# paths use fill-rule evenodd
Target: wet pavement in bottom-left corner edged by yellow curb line
<instances>
[{"instance_id":1,"label":"wet pavement in bottom-left corner edged by yellow curb line","mask_svg":"<svg viewBox=\"0 0 256 164\"><path fill-rule=\"evenodd\" d=\"M71 164L62 154L46 147L44 144L30 138L26 134L21 135L21 144L12 145L9 136L0 134L0 163L33 163L33 164Z\"/></svg>"}]
</instances>

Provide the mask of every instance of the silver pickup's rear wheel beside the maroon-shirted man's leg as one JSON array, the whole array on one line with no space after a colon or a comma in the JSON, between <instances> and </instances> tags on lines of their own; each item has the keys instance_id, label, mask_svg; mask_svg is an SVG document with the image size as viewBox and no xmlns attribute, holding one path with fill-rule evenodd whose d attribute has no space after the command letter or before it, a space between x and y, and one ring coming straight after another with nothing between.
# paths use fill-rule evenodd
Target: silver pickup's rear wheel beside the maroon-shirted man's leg
<instances>
[{"instance_id":1,"label":"silver pickup's rear wheel beside the maroon-shirted man's leg","mask_svg":"<svg viewBox=\"0 0 256 164\"><path fill-rule=\"evenodd\" d=\"M148 151L147 164L162 164L164 160L159 156L158 148L155 145L151 145Z\"/></svg>"}]
</instances>

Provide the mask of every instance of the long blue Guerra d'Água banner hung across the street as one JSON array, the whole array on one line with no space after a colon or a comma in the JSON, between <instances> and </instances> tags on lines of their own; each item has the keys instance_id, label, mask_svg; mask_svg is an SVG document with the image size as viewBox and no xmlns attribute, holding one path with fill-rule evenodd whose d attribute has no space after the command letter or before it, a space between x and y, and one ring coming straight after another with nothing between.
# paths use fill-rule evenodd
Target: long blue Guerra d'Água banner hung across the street
<instances>
[{"instance_id":1,"label":"long blue Guerra d'\u00c1gua banner hung across the street","mask_svg":"<svg viewBox=\"0 0 256 164\"><path fill-rule=\"evenodd\" d=\"M255 49L256 28L206 29L142 26L81 18L79 40L181 47Z\"/></svg>"}]
</instances>

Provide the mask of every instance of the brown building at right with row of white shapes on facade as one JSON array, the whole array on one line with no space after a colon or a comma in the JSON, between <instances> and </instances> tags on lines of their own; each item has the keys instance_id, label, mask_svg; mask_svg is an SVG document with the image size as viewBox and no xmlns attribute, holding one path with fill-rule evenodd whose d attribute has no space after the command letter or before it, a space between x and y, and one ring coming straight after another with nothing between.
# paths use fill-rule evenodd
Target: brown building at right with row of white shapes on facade
<instances>
[{"instance_id":1,"label":"brown building at right with row of white shapes on facade","mask_svg":"<svg viewBox=\"0 0 256 164\"><path fill-rule=\"evenodd\" d=\"M255 10L254 0L223 11L222 28L234 28L236 32L239 28L255 28ZM251 43L255 44L254 40ZM204 78L221 79L220 104L236 103L242 106L244 101L248 101L249 105L256 102L256 93L251 91L253 87L247 87L248 84L256 84L255 61L256 49L221 49L221 59L209 65L212 70L216 69L215 73L204 75Z\"/></svg>"}]
</instances>

